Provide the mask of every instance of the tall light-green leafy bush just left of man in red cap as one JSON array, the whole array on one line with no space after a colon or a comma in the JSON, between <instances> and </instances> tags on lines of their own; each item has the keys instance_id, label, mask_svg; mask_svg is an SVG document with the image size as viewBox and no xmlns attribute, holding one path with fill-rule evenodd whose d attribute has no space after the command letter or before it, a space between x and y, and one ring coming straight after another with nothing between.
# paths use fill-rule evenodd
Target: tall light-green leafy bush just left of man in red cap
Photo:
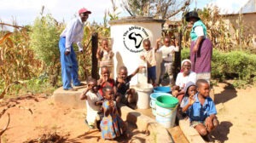
<instances>
[{"instance_id":1,"label":"tall light-green leafy bush just left of man in red cap","mask_svg":"<svg viewBox=\"0 0 256 143\"><path fill-rule=\"evenodd\" d=\"M44 7L41 16L36 18L30 32L30 48L35 53L35 58L43 61L44 72L49 74L50 83L55 85L60 74L60 52L58 41L63 26L61 26L51 14L44 15Z\"/></svg>"}]
</instances>

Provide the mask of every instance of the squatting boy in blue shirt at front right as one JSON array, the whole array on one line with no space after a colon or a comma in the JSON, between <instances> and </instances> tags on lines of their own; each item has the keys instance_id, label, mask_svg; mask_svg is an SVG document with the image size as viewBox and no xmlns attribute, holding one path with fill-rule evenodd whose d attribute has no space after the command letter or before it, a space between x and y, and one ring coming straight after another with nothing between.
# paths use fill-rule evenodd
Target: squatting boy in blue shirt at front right
<instances>
[{"instance_id":1,"label":"squatting boy in blue shirt at front right","mask_svg":"<svg viewBox=\"0 0 256 143\"><path fill-rule=\"evenodd\" d=\"M218 126L217 111L213 100L209 97L210 85L207 80L199 79L196 86L198 93L194 98L189 98L183 107L183 112L188 113L190 125L207 139L207 134Z\"/></svg>"}]
</instances>

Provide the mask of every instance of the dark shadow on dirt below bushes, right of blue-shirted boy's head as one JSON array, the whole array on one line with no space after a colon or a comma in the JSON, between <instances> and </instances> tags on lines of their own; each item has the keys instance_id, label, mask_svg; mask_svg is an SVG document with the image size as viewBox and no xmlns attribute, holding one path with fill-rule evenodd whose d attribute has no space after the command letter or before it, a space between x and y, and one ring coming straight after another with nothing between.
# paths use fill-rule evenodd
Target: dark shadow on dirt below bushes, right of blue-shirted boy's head
<instances>
[{"instance_id":1,"label":"dark shadow on dirt below bushes, right of blue-shirted boy's head","mask_svg":"<svg viewBox=\"0 0 256 143\"><path fill-rule=\"evenodd\" d=\"M233 98L236 98L237 91L234 88L234 86L230 83L226 83L227 86L224 87L224 90L219 94L214 94L214 102L215 105L218 105L219 103L227 102L228 100L232 100Z\"/></svg>"}]
</instances>

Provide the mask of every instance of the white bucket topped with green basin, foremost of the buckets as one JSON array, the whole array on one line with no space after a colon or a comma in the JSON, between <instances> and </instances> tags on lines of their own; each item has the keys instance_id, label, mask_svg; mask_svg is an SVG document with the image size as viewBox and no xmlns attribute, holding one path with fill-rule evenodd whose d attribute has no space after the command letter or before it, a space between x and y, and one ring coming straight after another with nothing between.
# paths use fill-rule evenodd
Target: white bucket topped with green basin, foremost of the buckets
<instances>
[{"instance_id":1,"label":"white bucket topped with green basin, foremost of the buckets","mask_svg":"<svg viewBox=\"0 0 256 143\"><path fill-rule=\"evenodd\" d=\"M175 97L163 95L156 98L156 121L166 129L175 125L178 100Z\"/></svg>"}]
</instances>

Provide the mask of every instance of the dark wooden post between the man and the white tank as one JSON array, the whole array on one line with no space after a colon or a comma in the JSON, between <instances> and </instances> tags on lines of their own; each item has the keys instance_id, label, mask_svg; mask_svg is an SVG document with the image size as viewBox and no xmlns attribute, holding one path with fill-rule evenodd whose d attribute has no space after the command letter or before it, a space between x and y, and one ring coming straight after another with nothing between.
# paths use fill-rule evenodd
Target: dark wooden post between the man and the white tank
<instances>
[{"instance_id":1,"label":"dark wooden post between the man and the white tank","mask_svg":"<svg viewBox=\"0 0 256 143\"><path fill-rule=\"evenodd\" d=\"M96 53L98 49L98 33L95 32L91 36L91 77L98 79L98 60Z\"/></svg>"}]
</instances>

